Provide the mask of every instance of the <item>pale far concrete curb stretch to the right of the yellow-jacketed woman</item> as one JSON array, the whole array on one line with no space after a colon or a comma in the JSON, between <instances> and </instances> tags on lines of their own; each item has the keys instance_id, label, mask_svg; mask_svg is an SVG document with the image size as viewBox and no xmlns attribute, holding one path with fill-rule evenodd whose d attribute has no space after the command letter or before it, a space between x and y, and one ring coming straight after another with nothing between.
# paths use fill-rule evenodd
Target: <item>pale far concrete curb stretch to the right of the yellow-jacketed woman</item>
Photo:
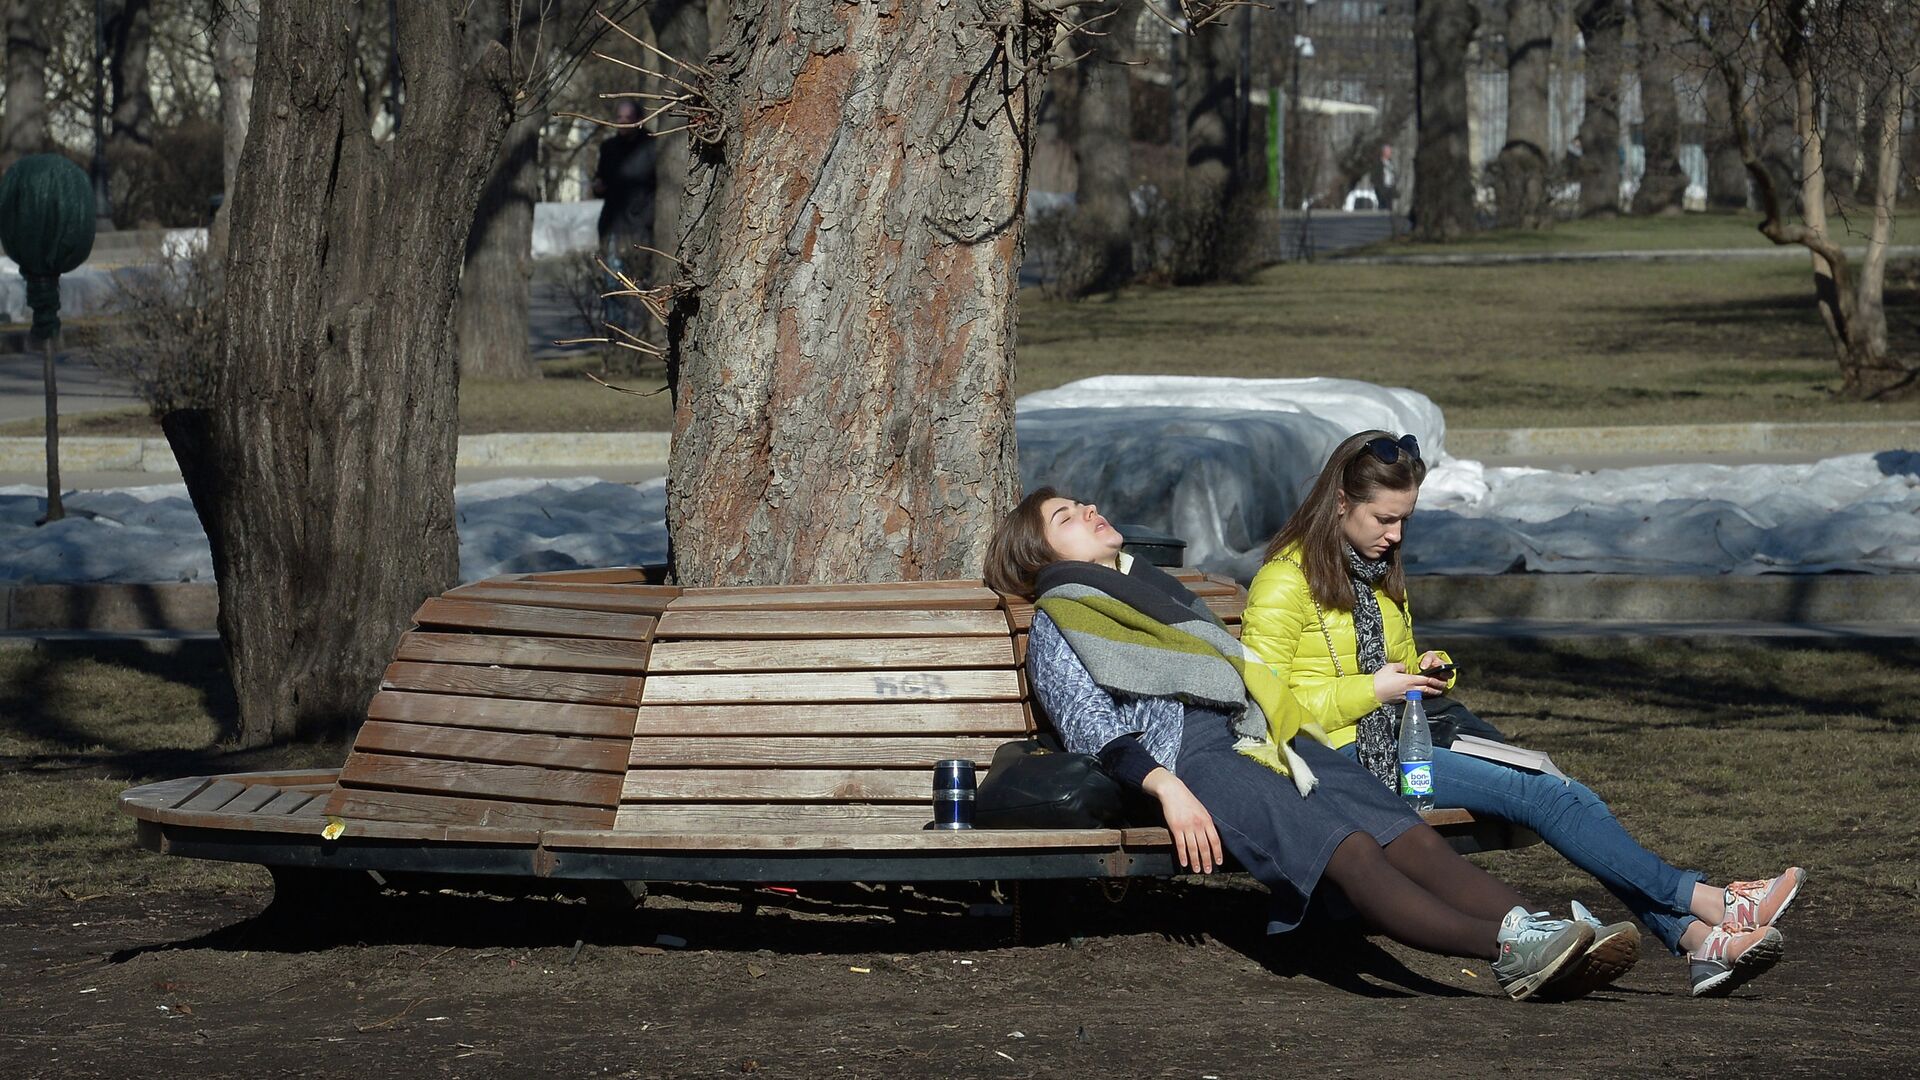
<instances>
[{"instance_id":1,"label":"pale far concrete curb stretch to the right of the yellow-jacketed woman","mask_svg":"<svg viewBox=\"0 0 1920 1080\"><path fill-rule=\"evenodd\" d=\"M1920 421L1450 429L1455 457L1878 454L1920 448Z\"/></svg>"}]
</instances>

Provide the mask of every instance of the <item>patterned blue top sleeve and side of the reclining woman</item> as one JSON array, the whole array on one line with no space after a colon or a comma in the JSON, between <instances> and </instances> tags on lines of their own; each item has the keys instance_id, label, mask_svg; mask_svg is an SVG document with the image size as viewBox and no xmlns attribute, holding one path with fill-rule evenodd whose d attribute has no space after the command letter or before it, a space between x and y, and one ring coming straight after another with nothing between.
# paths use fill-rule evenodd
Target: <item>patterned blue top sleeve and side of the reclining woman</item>
<instances>
[{"instance_id":1,"label":"patterned blue top sleeve and side of the reclining woman","mask_svg":"<svg viewBox=\"0 0 1920 1080\"><path fill-rule=\"evenodd\" d=\"M1139 734L1146 753L1167 773L1175 771L1187 705L1173 698L1114 698L1100 690L1044 611L1033 613L1027 636L1027 682L1069 751L1100 753L1116 738Z\"/></svg>"}]
</instances>

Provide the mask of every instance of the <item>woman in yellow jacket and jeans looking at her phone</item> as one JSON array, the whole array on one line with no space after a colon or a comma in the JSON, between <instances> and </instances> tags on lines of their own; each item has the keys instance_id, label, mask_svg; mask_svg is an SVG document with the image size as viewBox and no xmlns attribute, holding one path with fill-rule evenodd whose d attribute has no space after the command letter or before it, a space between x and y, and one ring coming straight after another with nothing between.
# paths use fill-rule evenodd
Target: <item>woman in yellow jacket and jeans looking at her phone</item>
<instances>
[{"instance_id":1,"label":"woman in yellow jacket and jeans looking at her phone","mask_svg":"<svg viewBox=\"0 0 1920 1080\"><path fill-rule=\"evenodd\" d=\"M1411 434L1363 430L1342 442L1267 546L1242 615L1242 644L1286 678L1334 748L1386 784L1398 774L1400 701L1409 690L1434 696L1455 682L1446 653L1423 653L1413 642L1400 561L1425 479ZM1494 734L1459 705L1438 711L1469 732ZM1634 842L1580 782L1442 746L1434 748L1432 774L1440 807L1532 828L1620 897L1668 949L1688 953L1695 995L1728 994L1780 959L1784 938L1772 922L1799 890L1797 867L1763 882L1709 886L1703 872L1674 869ZM1599 926L1586 909L1576 915ZM1596 949L1630 924L1603 930Z\"/></svg>"}]
</instances>

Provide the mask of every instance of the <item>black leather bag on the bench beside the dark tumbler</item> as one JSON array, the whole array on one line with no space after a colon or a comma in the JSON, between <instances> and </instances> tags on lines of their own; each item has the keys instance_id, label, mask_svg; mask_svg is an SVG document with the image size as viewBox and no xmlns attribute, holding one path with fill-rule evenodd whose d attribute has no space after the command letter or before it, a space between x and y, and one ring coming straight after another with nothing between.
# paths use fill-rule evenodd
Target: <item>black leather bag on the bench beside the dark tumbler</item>
<instances>
[{"instance_id":1,"label":"black leather bag on the bench beside the dark tumbler","mask_svg":"<svg viewBox=\"0 0 1920 1080\"><path fill-rule=\"evenodd\" d=\"M973 796L973 828L1117 828L1127 805L1119 782L1091 753L1068 753L1052 736L1008 742Z\"/></svg>"}]
</instances>

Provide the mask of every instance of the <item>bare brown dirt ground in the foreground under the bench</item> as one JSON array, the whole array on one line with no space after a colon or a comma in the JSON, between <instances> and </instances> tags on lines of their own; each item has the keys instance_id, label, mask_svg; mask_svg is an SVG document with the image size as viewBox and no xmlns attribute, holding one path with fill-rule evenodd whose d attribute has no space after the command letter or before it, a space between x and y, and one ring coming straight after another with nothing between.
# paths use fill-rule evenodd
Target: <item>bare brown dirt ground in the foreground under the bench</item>
<instances>
[{"instance_id":1,"label":"bare brown dirt ground in the foreground under the bench","mask_svg":"<svg viewBox=\"0 0 1920 1080\"><path fill-rule=\"evenodd\" d=\"M1528 894L1563 869L1503 859ZM1269 940L1244 878L1029 886L1018 932L981 886L79 897L0 911L0 1076L1914 1074L1910 919L1818 886L1730 999L1649 938L1567 1005L1344 924Z\"/></svg>"}]
</instances>

